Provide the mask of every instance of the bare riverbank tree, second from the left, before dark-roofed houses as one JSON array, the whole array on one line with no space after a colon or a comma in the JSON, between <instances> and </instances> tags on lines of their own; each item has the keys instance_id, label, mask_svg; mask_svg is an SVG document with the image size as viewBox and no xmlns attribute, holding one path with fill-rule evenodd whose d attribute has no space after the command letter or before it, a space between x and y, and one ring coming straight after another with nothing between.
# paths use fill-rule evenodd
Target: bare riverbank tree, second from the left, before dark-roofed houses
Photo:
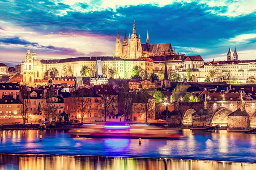
<instances>
[{"instance_id":1,"label":"bare riverbank tree, second from the left, before dark-roofed houses","mask_svg":"<svg viewBox=\"0 0 256 170\"><path fill-rule=\"evenodd\" d=\"M57 108L55 107L54 104L57 101L58 99L55 98L55 91L53 90L53 88L50 88L45 94L45 97L40 109L43 116L47 120L56 119Z\"/></svg>"}]
</instances>

